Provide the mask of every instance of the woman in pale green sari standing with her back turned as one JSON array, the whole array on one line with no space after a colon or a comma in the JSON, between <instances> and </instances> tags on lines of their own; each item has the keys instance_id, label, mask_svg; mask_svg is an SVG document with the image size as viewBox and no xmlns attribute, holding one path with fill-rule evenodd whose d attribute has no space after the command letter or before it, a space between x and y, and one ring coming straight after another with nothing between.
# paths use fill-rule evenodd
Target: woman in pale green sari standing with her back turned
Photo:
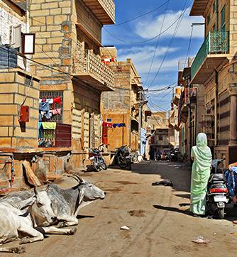
<instances>
[{"instance_id":1,"label":"woman in pale green sari standing with her back turned","mask_svg":"<svg viewBox=\"0 0 237 257\"><path fill-rule=\"evenodd\" d=\"M194 163L192 164L189 210L193 212L194 217L200 217L205 214L206 190L211 172L211 149L207 146L205 133L197 135L197 146L192 147L191 159Z\"/></svg>"}]
</instances>

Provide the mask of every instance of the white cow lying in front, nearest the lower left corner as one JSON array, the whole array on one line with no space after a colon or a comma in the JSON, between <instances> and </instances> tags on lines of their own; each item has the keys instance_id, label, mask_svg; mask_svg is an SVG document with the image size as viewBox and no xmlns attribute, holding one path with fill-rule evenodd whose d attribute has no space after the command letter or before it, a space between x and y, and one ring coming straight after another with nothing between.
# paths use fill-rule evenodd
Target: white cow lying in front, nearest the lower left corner
<instances>
[{"instance_id":1,"label":"white cow lying in front, nearest the lower left corner","mask_svg":"<svg viewBox=\"0 0 237 257\"><path fill-rule=\"evenodd\" d=\"M42 228L44 222L52 224L57 219L51 208L47 190L31 192L21 199L16 195L0 201L0 244L20 240L20 244L43 240L43 234L75 234L76 229ZM23 197L24 198L24 197ZM0 251L22 253L23 246L1 247Z\"/></svg>"}]
</instances>

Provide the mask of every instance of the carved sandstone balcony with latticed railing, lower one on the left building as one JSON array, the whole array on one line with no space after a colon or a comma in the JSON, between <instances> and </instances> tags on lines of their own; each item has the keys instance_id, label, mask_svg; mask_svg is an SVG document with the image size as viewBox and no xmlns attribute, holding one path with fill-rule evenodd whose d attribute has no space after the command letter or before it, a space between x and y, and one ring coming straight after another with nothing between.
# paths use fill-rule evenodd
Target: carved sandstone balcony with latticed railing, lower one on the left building
<instances>
[{"instance_id":1,"label":"carved sandstone balcony with latticed railing, lower one on the left building","mask_svg":"<svg viewBox=\"0 0 237 257\"><path fill-rule=\"evenodd\" d=\"M72 73L99 91L114 91L114 72L91 50L77 49L73 53Z\"/></svg>"}]
</instances>

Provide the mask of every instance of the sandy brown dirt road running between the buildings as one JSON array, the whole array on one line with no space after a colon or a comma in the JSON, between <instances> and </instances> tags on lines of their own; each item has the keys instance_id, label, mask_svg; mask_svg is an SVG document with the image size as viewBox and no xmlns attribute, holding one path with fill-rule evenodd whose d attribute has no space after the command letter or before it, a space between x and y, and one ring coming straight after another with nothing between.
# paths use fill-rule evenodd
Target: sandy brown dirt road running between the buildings
<instances>
[{"instance_id":1,"label":"sandy brown dirt road running between the buildings","mask_svg":"<svg viewBox=\"0 0 237 257\"><path fill-rule=\"evenodd\" d=\"M132 171L111 167L99 173L84 173L106 192L79 212L74 236L48 235L43 241L26 244L22 257L155 257L233 256L237 253L237 208L226 208L225 219L192 217L189 208L190 170L165 161L134 163ZM179 163L172 163L179 164ZM182 163L183 164L183 163ZM172 187L152 182L172 180ZM67 180L69 181L69 180ZM67 186L74 180L70 178ZM65 182L59 185L65 188ZM130 230L121 230L128 226ZM192 240L203 236L209 244ZM11 242L5 246L16 246ZM13 256L13 253L0 253Z\"/></svg>"}]
</instances>

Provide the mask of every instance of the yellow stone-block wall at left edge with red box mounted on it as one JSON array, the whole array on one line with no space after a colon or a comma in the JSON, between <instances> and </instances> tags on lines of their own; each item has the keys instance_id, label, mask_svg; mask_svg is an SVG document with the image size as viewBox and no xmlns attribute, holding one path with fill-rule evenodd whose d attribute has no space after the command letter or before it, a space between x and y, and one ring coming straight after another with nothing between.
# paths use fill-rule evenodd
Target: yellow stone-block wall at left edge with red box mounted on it
<instances>
[{"instance_id":1,"label":"yellow stone-block wall at left edge with red box mounted on it","mask_svg":"<svg viewBox=\"0 0 237 257\"><path fill-rule=\"evenodd\" d=\"M38 147L39 79L34 76L32 78L29 88L25 80L31 82L30 73L19 69L0 72L1 148ZM23 103L24 99L26 100ZM18 121L18 111L22 103L29 106L28 122Z\"/></svg>"}]
</instances>

